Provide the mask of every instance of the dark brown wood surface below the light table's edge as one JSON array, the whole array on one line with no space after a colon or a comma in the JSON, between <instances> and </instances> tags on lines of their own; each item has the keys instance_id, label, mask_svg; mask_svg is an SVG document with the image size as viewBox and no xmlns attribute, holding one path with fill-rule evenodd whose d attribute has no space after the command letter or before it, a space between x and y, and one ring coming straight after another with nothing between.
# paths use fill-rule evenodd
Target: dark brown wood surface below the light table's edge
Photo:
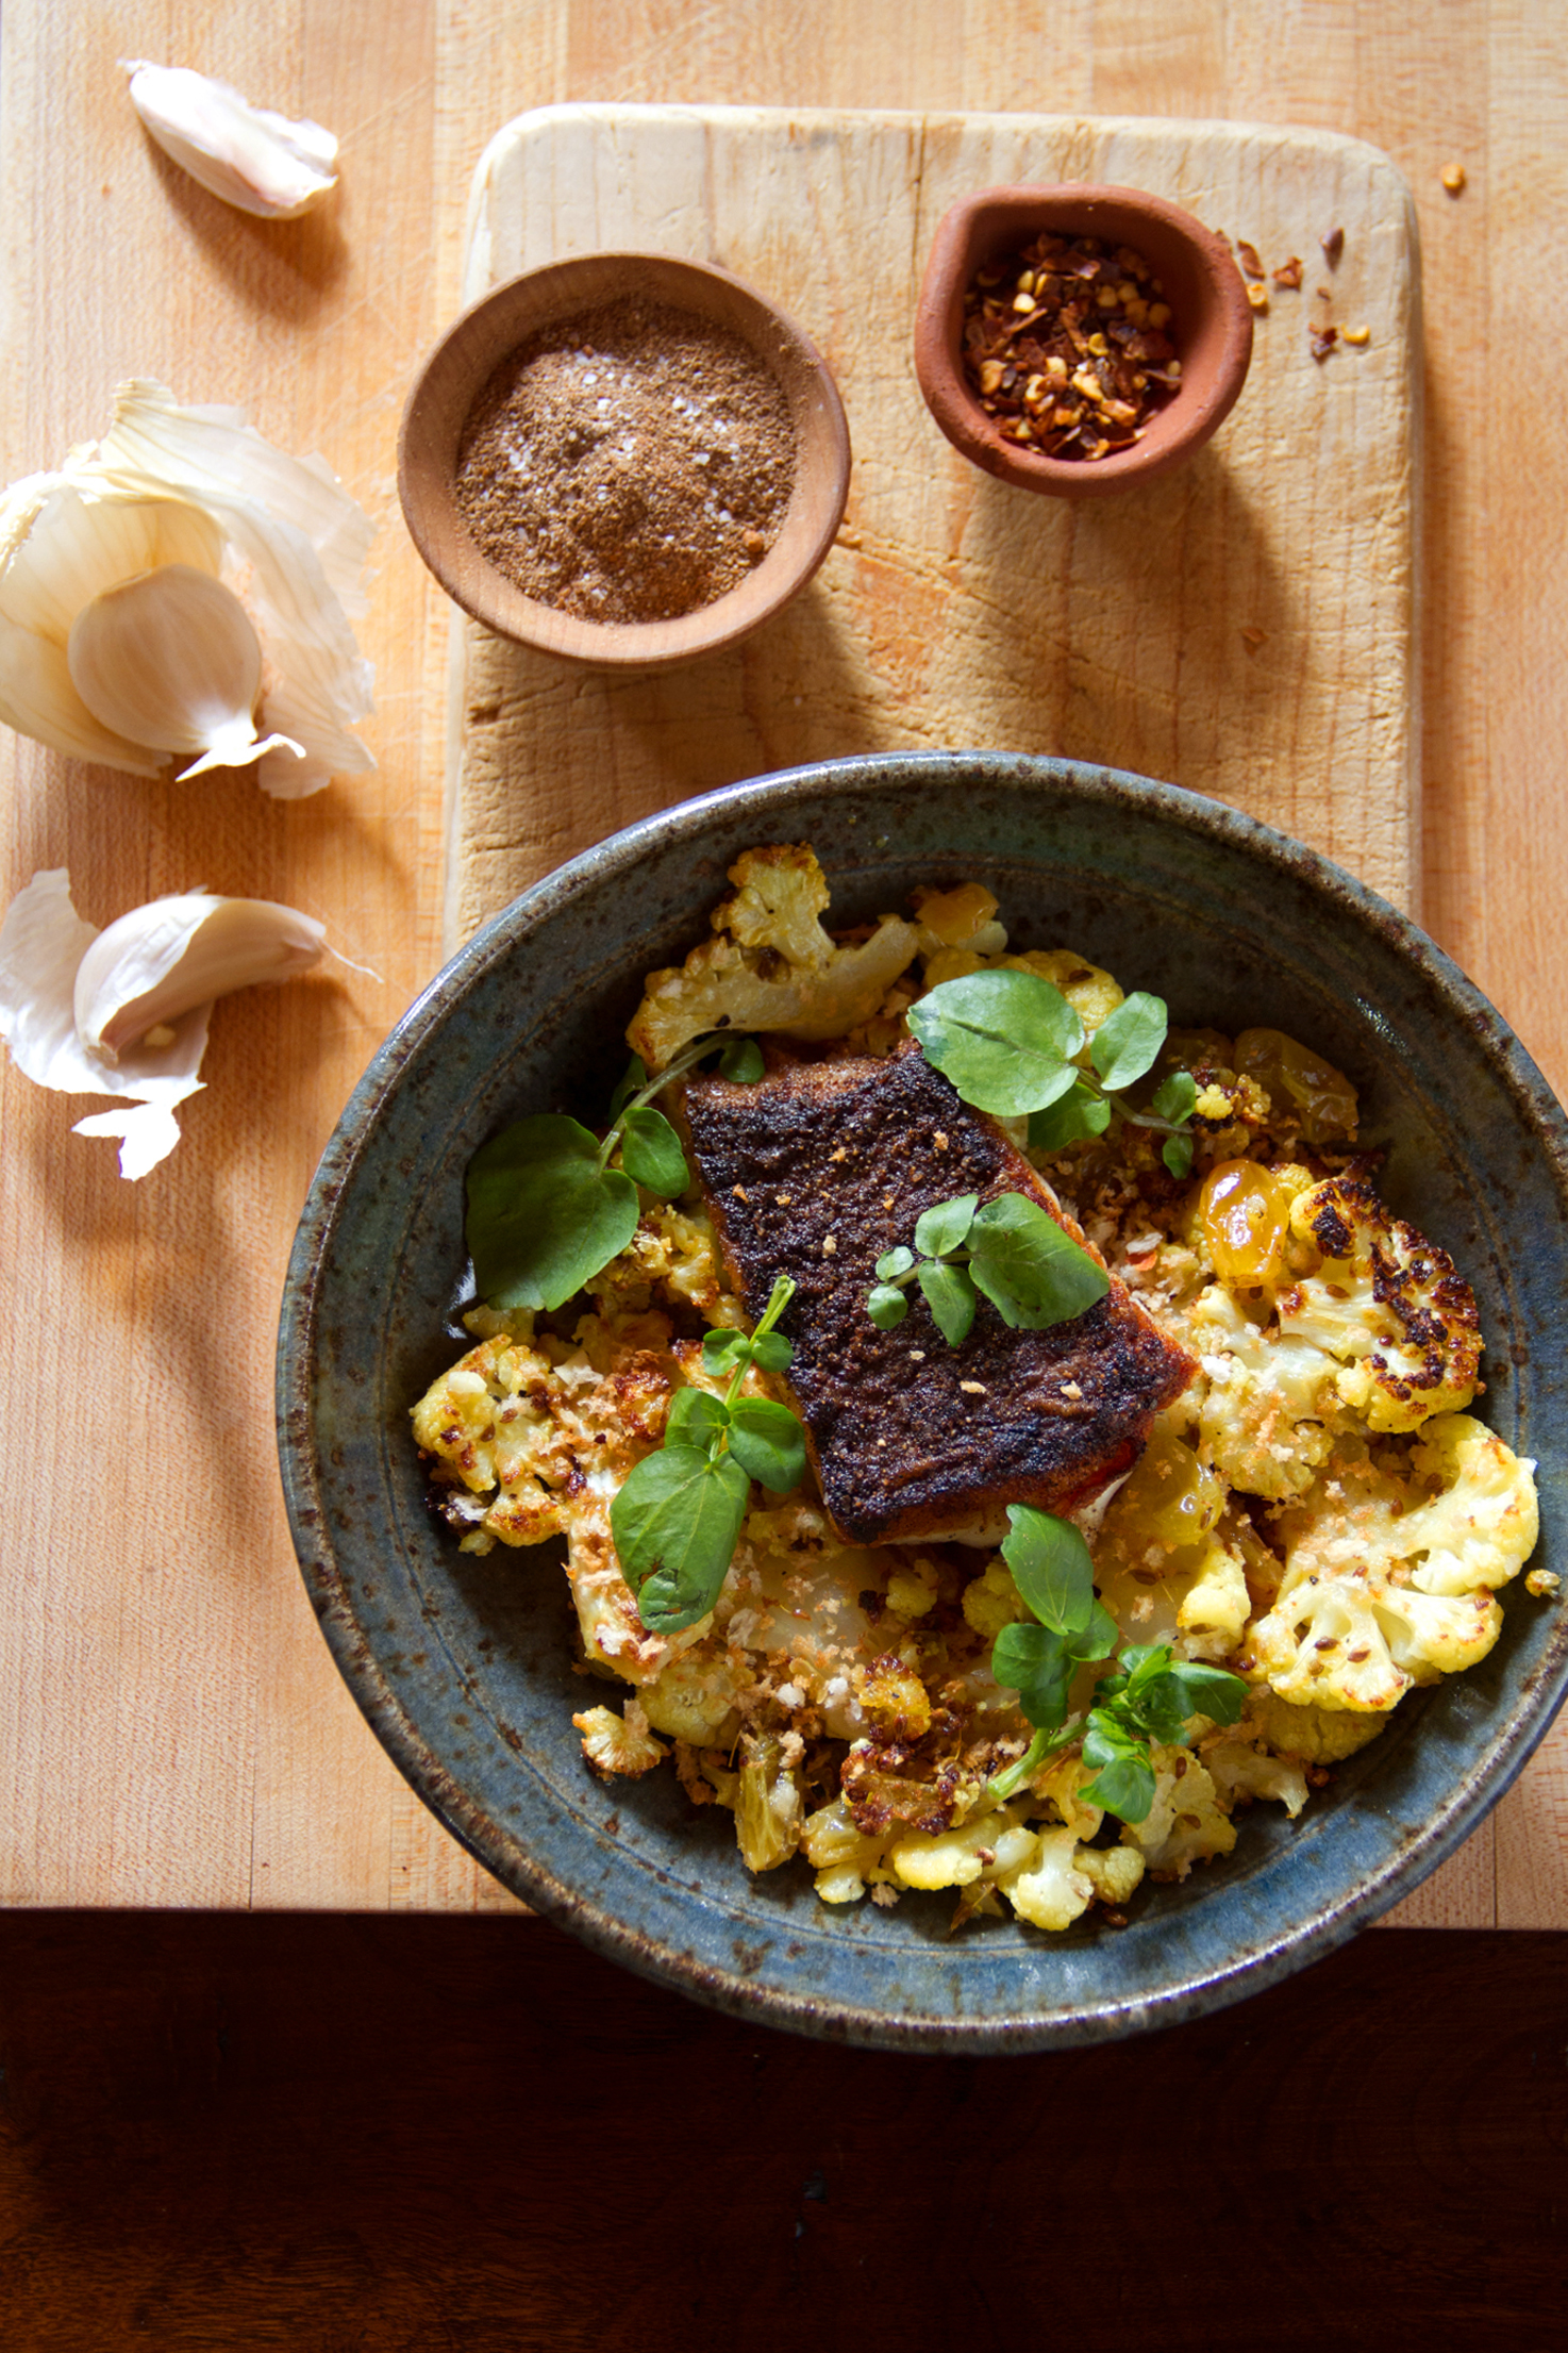
<instances>
[{"instance_id":1,"label":"dark brown wood surface below the light table's edge","mask_svg":"<svg viewBox=\"0 0 1568 2353\"><path fill-rule=\"evenodd\" d=\"M1568 1937L903 2059L538 1920L0 1918L0 2346L1556 2353Z\"/></svg>"}]
</instances>

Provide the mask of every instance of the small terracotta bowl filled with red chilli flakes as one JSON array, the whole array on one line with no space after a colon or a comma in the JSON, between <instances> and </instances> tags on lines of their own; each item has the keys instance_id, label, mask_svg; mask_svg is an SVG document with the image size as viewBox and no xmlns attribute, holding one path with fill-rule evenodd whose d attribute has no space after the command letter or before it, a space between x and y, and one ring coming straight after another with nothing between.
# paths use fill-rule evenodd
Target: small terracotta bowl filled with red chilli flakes
<instances>
[{"instance_id":1,"label":"small terracotta bowl filled with red chilli flakes","mask_svg":"<svg viewBox=\"0 0 1568 2353\"><path fill-rule=\"evenodd\" d=\"M1143 188L983 188L938 221L914 374L947 440L1053 499L1180 466L1229 416L1253 311L1225 238Z\"/></svg>"}]
</instances>

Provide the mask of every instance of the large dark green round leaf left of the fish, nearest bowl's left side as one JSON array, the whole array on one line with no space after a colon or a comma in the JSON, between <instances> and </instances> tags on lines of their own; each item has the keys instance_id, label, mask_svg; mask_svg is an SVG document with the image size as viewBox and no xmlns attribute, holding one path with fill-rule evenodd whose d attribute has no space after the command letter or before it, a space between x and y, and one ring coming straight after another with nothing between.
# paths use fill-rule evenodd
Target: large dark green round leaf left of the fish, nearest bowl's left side
<instances>
[{"instance_id":1,"label":"large dark green round leaf left of the fish, nearest bowl's left side","mask_svg":"<svg viewBox=\"0 0 1568 2353\"><path fill-rule=\"evenodd\" d=\"M468 1254L496 1308L559 1308L637 1233L637 1186L555 1111L503 1127L468 1162Z\"/></svg>"}]
</instances>

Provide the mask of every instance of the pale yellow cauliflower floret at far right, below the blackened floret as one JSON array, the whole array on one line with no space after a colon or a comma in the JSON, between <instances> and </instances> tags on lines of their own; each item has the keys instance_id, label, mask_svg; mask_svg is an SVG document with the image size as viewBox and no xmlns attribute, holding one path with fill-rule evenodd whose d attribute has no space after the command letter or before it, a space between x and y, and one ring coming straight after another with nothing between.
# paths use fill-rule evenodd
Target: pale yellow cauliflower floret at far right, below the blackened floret
<instances>
[{"instance_id":1,"label":"pale yellow cauliflower floret at far right, below the blackened floret","mask_svg":"<svg viewBox=\"0 0 1568 2353\"><path fill-rule=\"evenodd\" d=\"M1279 1520L1286 1574L1248 1633L1269 1689L1382 1715L1483 1659L1502 1631L1493 1588L1535 1544L1530 1471L1467 1414L1434 1424L1408 1473L1342 1440Z\"/></svg>"}]
</instances>

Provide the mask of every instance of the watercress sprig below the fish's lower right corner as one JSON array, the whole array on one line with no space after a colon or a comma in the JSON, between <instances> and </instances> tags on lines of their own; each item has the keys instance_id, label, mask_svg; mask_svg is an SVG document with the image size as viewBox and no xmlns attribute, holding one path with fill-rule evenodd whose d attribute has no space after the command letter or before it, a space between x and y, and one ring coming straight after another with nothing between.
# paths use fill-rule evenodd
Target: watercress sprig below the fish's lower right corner
<instances>
[{"instance_id":1,"label":"watercress sprig below the fish's lower right corner","mask_svg":"<svg viewBox=\"0 0 1568 2353\"><path fill-rule=\"evenodd\" d=\"M992 1675L1018 1692L1034 1739L994 1777L992 1795L1004 1802L1048 1755L1081 1746L1095 1777L1079 1795L1121 1821L1147 1821L1154 1805L1150 1739L1182 1741L1192 1715L1234 1725L1246 1682L1222 1666L1175 1659L1166 1642L1133 1645L1117 1657L1117 1621L1095 1598L1093 1560L1079 1529L1032 1504L1011 1504L1009 1522L1001 1558L1030 1619L1001 1628ZM1114 1666L1095 1682L1093 1706L1067 1722L1072 1678L1093 1659L1114 1659Z\"/></svg>"}]
</instances>

